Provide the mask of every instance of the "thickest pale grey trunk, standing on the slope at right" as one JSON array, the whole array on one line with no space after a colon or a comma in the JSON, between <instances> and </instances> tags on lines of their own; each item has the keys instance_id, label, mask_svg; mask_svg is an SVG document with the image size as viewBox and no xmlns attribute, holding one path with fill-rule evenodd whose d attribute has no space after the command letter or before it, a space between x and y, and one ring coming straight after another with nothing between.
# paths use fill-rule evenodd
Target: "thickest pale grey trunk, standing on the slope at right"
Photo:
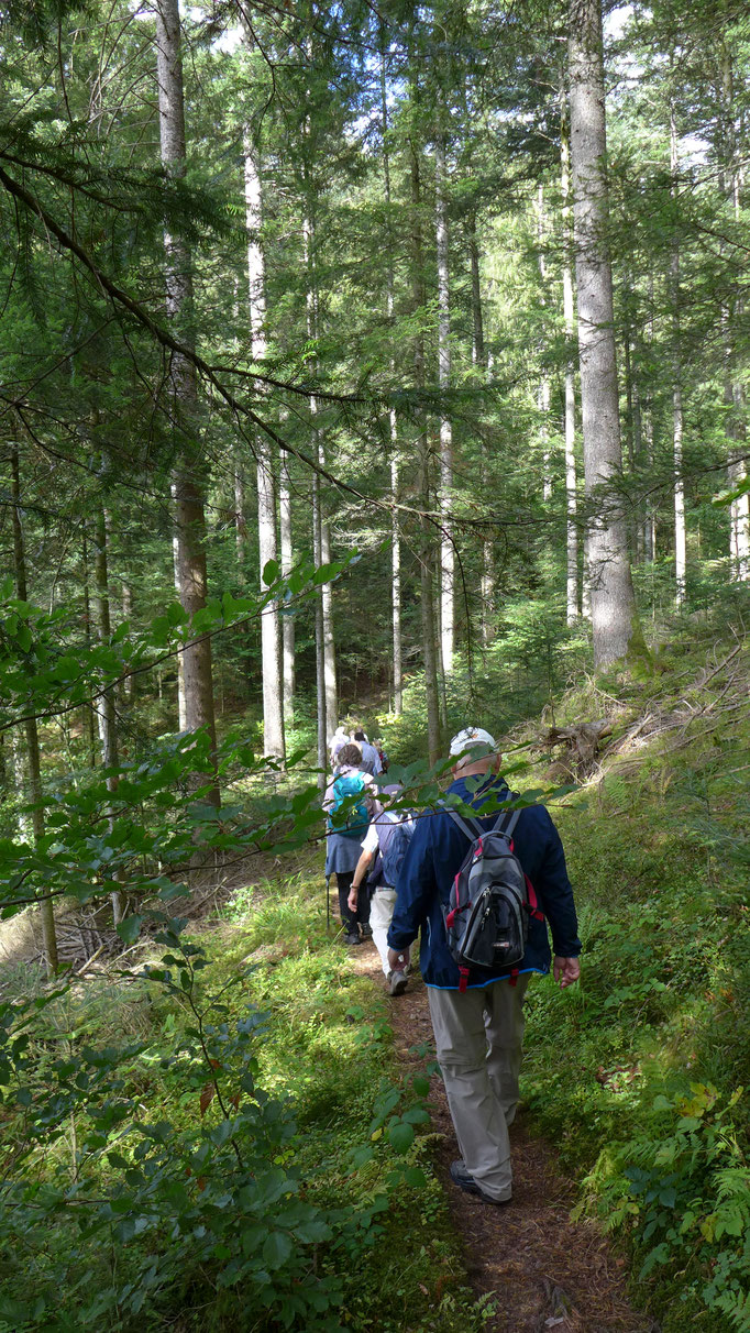
<instances>
[{"instance_id":1,"label":"thickest pale grey trunk, standing on the slope at right","mask_svg":"<svg viewBox=\"0 0 750 1333\"><path fill-rule=\"evenodd\" d=\"M606 127L599 0L570 3L570 161L573 169L578 348L589 537L594 663L606 666L639 637L627 559L627 529L617 495L622 473L607 247Z\"/></svg>"}]
</instances>

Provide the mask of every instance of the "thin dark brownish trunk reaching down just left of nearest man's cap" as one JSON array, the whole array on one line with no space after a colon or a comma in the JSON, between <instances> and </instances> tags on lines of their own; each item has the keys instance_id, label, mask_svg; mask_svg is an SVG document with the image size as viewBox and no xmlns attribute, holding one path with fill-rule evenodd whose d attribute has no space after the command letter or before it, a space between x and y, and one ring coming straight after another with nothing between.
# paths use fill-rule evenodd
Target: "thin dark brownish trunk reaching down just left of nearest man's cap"
<instances>
[{"instance_id":1,"label":"thin dark brownish trunk reaching down just left of nearest man's cap","mask_svg":"<svg viewBox=\"0 0 750 1333\"><path fill-rule=\"evenodd\" d=\"M414 316L421 321L425 305L424 285L424 256L422 256L422 187L420 156L414 141L409 145L410 177L412 177L412 300ZM414 333L414 387L425 387L425 341L421 323ZM437 762L441 750L440 736L440 700L438 700L438 653L437 653L437 627L434 616L434 587L433 587L433 560L434 560L434 533L429 519L430 511L430 447L426 424L422 423L418 443L420 467L420 503L422 515L420 527L422 543L420 551L420 596L422 615L422 655L425 666L425 696L428 713L428 756L430 764Z\"/></svg>"}]
</instances>

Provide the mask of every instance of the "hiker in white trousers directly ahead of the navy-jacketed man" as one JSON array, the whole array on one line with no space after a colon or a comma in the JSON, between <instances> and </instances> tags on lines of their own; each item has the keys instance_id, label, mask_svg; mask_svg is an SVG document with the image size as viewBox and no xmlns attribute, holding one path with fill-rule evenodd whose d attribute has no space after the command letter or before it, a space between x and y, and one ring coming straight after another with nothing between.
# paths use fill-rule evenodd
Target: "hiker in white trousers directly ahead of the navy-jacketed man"
<instances>
[{"instance_id":1,"label":"hiker in white trousers directly ahead of the navy-jacketed man","mask_svg":"<svg viewBox=\"0 0 750 1333\"><path fill-rule=\"evenodd\" d=\"M393 784L381 788L381 790L386 796L397 796L401 788ZM409 953L400 957L398 966L390 966L388 961L388 928L396 906L396 885L413 832L414 817L410 810L382 810L365 833L362 852L349 889L348 902L353 912L358 908L361 894L369 897L373 944L380 953L388 990L392 996L404 994L408 985Z\"/></svg>"}]
</instances>

